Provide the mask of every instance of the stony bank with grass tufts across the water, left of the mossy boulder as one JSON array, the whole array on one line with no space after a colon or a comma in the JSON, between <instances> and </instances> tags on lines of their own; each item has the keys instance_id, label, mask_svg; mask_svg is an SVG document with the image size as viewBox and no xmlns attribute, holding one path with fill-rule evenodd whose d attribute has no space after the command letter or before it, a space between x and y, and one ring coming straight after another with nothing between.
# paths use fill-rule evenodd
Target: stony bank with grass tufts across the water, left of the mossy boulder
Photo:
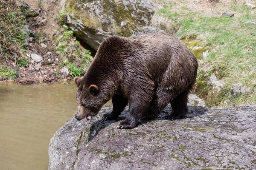
<instances>
[{"instance_id":1,"label":"stony bank with grass tufts across the water, left of the mossy boulder","mask_svg":"<svg viewBox=\"0 0 256 170\"><path fill-rule=\"evenodd\" d=\"M22 0L0 0L0 81L11 79L20 82L22 79L22 82L29 83L50 82L49 79L84 74L92 56L90 51L81 47L73 31L63 26L65 15L65 11L59 11L58 16L52 19L56 26L51 30L55 35L51 41L48 35L38 32L38 23L43 19L38 12ZM46 44L46 47L41 44ZM43 61L32 61L32 53L43 56ZM38 70L35 65L39 65ZM69 69L68 75L61 74L63 67ZM49 79L42 77L42 74L48 75Z\"/></svg>"}]
</instances>

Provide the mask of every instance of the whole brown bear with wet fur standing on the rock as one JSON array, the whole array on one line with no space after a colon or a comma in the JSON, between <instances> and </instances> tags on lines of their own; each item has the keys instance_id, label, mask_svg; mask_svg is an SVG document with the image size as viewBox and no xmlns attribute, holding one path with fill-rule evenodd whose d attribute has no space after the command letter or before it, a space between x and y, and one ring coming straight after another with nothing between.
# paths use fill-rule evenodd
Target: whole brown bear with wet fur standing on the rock
<instances>
[{"instance_id":1,"label":"whole brown bear with wet fur standing on the rock","mask_svg":"<svg viewBox=\"0 0 256 170\"><path fill-rule=\"evenodd\" d=\"M195 84L198 62L186 45L159 32L138 37L106 38L78 87L76 119L91 120L112 99L113 111L103 119L117 119L129 102L128 116L117 128L134 128L155 119L171 103L169 119L188 112L188 94Z\"/></svg>"}]
</instances>

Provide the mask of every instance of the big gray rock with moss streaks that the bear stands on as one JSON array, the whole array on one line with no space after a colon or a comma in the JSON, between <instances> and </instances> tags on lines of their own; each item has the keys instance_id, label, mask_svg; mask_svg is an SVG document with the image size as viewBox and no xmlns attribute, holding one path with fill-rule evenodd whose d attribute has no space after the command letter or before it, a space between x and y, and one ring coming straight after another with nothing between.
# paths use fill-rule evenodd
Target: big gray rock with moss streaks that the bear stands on
<instances>
[{"instance_id":1,"label":"big gray rock with moss streaks that the bear stands on","mask_svg":"<svg viewBox=\"0 0 256 170\"><path fill-rule=\"evenodd\" d=\"M159 119L131 130L118 121L72 117L52 137L49 170L256 169L256 105L241 108L189 107L188 118Z\"/></svg>"}]
</instances>

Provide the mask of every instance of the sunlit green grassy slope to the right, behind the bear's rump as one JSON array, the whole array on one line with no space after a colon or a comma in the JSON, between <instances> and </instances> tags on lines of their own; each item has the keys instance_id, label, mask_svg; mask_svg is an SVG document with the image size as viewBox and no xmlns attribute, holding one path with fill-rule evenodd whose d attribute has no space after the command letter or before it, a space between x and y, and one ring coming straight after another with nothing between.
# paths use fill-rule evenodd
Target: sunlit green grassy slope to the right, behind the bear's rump
<instances>
[{"instance_id":1,"label":"sunlit green grassy slope to the right, behind the bear's rump","mask_svg":"<svg viewBox=\"0 0 256 170\"><path fill-rule=\"evenodd\" d=\"M158 1L158 0L157 0ZM213 107L236 107L256 104L256 25L244 24L256 20L256 12L244 4L232 3L225 6L236 12L235 16L203 16L189 8L163 5L158 14L168 17L180 26L176 36L194 52L199 60L196 93L206 98L209 93L207 82L212 74L225 83L221 100L211 103ZM192 35L192 38L191 38ZM204 39L197 38L204 37ZM184 38L188 37L188 38ZM200 45L198 45L200 44ZM201 51L193 46L201 46ZM206 58L203 51L209 51ZM231 94L231 85L242 83L251 92L239 96Z\"/></svg>"}]
</instances>

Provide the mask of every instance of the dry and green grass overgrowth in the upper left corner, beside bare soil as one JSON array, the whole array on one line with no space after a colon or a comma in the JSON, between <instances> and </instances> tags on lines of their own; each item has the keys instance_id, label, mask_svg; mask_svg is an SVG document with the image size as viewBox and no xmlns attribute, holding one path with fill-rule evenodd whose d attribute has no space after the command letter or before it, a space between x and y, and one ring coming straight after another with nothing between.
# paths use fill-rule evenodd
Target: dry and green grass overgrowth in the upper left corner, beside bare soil
<instances>
[{"instance_id":1,"label":"dry and green grass overgrowth in the upper left corner, beside bare soil","mask_svg":"<svg viewBox=\"0 0 256 170\"><path fill-rule=\"evenodd\" d=\"M22 56L25 38L29 34L24 29L25 20L35 14L23 4L17 6L16 0L0 0L0 59L9 62ZM15 53L17 55L13 55Z\"/></svg>"}]
</instances>

